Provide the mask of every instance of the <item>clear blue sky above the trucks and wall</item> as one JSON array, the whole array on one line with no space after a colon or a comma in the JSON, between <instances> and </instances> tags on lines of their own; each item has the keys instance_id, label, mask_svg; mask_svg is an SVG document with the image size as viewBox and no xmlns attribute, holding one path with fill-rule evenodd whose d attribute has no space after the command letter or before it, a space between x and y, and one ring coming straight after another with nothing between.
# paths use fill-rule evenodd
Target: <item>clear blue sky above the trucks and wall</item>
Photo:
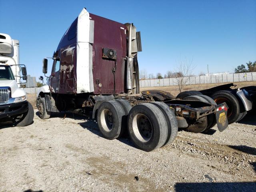
<instances>
[{"instance_id":1,"label":"clear blue sky above the trucks and wall","mask_svg":"<svg viewBox=\"0 0 256 192\"><path fill-rule=\"evenodd\" d=\"M158 1L0 0L0 32L20 40L20 63L42 75L42 59L52 56L62 35L83 7L141 31L140 69L175 71L185 58L194 71L233 72L256 60L256 0ZM51 62L48 65L51 67Z\"/></svg>"}]
</instances>

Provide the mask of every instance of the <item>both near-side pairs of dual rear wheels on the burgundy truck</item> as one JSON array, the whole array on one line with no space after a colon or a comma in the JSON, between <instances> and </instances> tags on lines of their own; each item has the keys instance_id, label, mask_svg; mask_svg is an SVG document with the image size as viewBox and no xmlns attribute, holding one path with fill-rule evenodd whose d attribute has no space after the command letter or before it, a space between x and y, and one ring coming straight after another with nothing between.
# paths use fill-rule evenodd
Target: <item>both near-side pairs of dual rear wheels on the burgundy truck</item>
<instances>
[{"instance_id":1,"label":"both near-side pairs of dual rear wheels on the burgundy truck","mask_svg":"<svg viewBox=\"0 0 256 192\"><path fill-rule=\"evenodd\" d=\"M118 138L128 130L134 145L147 152L169 144L178 132L174 112L162 102L132 108L126 100L104 101L98 109L97 122L105 138Z\"/></svg>"}]
</instances>

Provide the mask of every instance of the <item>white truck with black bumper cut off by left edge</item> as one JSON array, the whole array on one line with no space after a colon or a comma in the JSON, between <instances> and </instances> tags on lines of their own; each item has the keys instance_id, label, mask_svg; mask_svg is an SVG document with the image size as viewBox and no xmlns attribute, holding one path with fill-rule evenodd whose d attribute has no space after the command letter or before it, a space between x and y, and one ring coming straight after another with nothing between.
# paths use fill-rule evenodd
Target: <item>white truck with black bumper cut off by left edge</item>
<instances>
[{"instance_id":1,"label":"white truck with black bumper cut off by left edge","mask_svg":"<svg viewBox=\"0 0 256 192\"><path fill-rule=\"evenodd\" d=\"M15 126L33 122L33 107L20 88L20 70L22 79L27 80L26 66L20 64L19 41L0 33L0 126L9 121Z\"/></svg>"}]
</instances>

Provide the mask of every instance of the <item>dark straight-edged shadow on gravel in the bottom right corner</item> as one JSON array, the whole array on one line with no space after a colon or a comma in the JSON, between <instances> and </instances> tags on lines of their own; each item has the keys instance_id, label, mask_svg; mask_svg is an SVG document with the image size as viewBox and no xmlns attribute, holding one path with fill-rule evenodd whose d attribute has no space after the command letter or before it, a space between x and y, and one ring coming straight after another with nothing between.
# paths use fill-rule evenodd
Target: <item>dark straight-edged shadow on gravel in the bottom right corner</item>
<instances>
[{"instance_id":1,"label":"dark straight-edged shadow on gravel in the bottom right corner","mask_svg":"<svg viewBox=\"0 0 256 192\"><path fill-rule=\"evenodd\" d=\"M176 192L246 191L255 192L256 182L176 183Z\"/></svg>"}]
</instances>

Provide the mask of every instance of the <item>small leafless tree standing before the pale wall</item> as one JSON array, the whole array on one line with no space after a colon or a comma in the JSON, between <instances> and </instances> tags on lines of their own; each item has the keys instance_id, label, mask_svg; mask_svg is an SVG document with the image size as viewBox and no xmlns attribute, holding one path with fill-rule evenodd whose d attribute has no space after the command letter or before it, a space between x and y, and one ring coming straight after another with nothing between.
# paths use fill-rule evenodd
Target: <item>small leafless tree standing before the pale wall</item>
<instances>
[{"instance_id":1,"label":"small leafless tree standing before the pale wall","mask_svg":"<svg viewBox=\"0 0 256 192\"><path fill-rule=\"evenodd\" d=\"M191 76L192 70L195 68L195 66L192 65L193 59L191 61L188 61L186 58L184 60L181 60L176 72L175 72L175 78L179 86L180 92L184 90L184 87L189 82L189 77Z\"/></svg>"}]
</instances>

